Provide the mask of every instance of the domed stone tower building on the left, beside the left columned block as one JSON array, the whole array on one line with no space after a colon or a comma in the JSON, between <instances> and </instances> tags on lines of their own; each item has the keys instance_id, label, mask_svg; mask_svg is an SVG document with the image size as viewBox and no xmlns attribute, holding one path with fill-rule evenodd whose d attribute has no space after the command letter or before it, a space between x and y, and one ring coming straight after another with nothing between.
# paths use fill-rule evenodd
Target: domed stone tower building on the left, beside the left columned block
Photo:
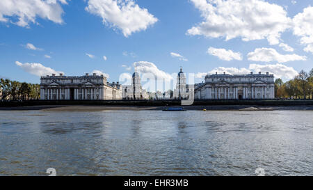
<instances>
[{"instance_id":1,"label":"domed stone tower building on the left, beside the left columned block","mask_svg":"<svg viewBox=\"0 0 313 190\"><path fill-rule=\"evenodd\" d=\"M141 77L138 72L134 72L131 77L131 85L122 86L123 100L148 100L149 95L141 86Z\"/></svg>"}]
</instances>

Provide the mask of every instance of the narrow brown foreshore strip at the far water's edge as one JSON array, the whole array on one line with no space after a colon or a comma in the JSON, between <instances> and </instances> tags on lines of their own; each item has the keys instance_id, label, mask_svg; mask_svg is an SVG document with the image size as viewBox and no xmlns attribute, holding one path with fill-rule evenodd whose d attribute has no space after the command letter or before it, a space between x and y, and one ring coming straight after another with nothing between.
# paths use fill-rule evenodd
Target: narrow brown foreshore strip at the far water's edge
<instances>
[{"instance_id":1,"label":"narrow brown foreshore strip at the far water's edge","mask_svg":"<svg viewBox=\"0 0 313 190\"><path fill-rule=\"evenodd\" d=\"M172 106L179 107L179 106ZM6 110L43 110L43 111L106 111L106 110L162 110L163 106L94 106L94 105L54 105L54 106L17 106L0 107L0 111ZM273 111L273 110L311 110L313 106L251 106L251 105L231 105L231 106L184 106L187 110L214 111Z\"/></svg>"}]
</instances>

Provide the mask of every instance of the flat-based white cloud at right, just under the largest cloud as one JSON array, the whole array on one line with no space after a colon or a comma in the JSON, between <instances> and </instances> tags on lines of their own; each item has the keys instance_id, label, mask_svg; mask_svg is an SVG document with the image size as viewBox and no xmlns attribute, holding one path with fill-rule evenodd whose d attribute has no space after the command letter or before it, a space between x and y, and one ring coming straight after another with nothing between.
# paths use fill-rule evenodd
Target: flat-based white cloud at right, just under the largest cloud
<instances>
[{"instance_id":1,"label":"flat-based white cloud at right, just under the largest cloud","mask_svg":"<svg viewBox=\"0 0 313 190\"><path fill-rule=\"evenodd\" d=\"M255 52L248 53L249 61L262 61L262 62L278 62L286 63L288 61L306 61L306 56L298 56L297 54L279 54L273 48L257 48Z\"/></svg>"}]
</instances>

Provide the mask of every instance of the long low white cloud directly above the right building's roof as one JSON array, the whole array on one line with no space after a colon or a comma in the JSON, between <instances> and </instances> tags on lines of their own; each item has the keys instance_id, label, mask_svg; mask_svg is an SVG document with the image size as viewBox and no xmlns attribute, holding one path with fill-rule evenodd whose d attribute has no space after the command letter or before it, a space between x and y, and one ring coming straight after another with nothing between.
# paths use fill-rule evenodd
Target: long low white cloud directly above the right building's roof
<instances>
[{"instance_id":1,"label":"long low white cloud directly above the right building's roof","mask_svg":"<svg viewBox=\"0 0 313 190\"><path fill-rule=\"evenodd\" d=\"M250 72L262 72L265 74L266 72L269 72L270 74L274 74L275 78L282 78L282 79L293 79L296 75L298 75L298 72L294 70L292 67L288 67L286 65L282 65L280 63L277 64L266 64L266 65L258 65L258 64L250 64L249 68L224 68L224 67L218 67L214 68L213 70L204 73L199 72L198 74L195 74L196 78L203 78L207 74L223 74L224 72L226 74L250 74Z\"/></svg>"}]
</instances>

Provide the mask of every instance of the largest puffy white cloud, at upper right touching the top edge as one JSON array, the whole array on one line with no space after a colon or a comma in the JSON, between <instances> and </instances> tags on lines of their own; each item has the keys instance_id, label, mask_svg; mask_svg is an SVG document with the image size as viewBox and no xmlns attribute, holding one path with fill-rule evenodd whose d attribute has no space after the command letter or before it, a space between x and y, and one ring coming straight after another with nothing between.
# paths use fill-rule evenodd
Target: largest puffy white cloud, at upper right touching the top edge
<instances>
[{"instance_id":1,"label":"largest puffy white cloud, at upper right touching the top edge","mask_svg":"<svg viewBox=\"0 0 313 190\"><path fill-rule=\"evenodd\" d=\"M191 0L204 21L187 31L188 35L209 38L267 39L279 44L280 35L291 26L282 6L262 0Z\"/></svg>"}]
</instances>

